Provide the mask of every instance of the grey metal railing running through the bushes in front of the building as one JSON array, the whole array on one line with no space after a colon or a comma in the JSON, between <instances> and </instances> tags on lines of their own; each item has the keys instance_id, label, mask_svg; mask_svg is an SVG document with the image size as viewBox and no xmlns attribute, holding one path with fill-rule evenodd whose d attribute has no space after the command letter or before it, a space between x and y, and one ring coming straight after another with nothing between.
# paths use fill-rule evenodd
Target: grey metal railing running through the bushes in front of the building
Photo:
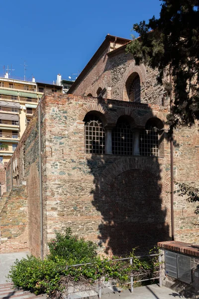
<instances>
[{"instance_id":1,"label":"grey metal railing running through the bushes in front of the building","mask_svg":"<svg viewBox=\"0 0 199 299\"><path fill-rule=\"evenodd\" d=\"M115 262L115 261L127 261L129 260L129 263L130 265L133 264L133 259L141 259L141 258L145 258L145 257L155 257L155 256L158 256L158 262L160 263L160 268L158 271L156 271L155 273L159 273L159 276L157 277L153 277L153 278L147 278L147 279L142 279L142 280L136 280L134 281L133 280L133 274L131 273L130 275L130 282L128 283L124 283L124 285L130 285L130 292L133 293L133 284L135 283L139 283L139 282L145 282L145 281L150 281L150 280L156 280L158 279L159 280L159 287L162 287L162 284L161 284L161 276L160 276L160 271L161 271L161 256L163 256L162 253L157 253L157 254L150 254L150 255L143 255L143 256L136 256L136 257L130 257L130 258L122 258L122 259L115 259L115 260L109 260L109 262ZM68 268L71 268L71 267L81 267L81 266L86 266L86 265L93 265L95 263L85 263L85 264L77 264L77 265L71 265L71 266L67 266L67 269ZM143 275L143 274L136 274L135 276L139 276L139 275ZM112 287L116 287L116 285L113 285ZM98 281L98 297L99 299L101 299L101 282L100 280ZM75 292L74 292L75 293ZM71 293L72 294L72 293ZM88 296L89 297L89 296ZM81 298L81 297L80 297Z\"/></svg>"}]
</instances>

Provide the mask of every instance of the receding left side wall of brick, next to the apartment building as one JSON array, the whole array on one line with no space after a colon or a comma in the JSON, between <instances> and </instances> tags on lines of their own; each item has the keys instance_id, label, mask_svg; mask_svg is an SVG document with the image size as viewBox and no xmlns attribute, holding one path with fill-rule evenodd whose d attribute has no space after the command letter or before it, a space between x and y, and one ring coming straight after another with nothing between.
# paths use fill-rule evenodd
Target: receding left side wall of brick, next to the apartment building
<instances>
[{"instance_id":1,"label":"receding left side wall of brick, next to the apartment building","mask_svg":"<svg viewBox=\"0 0 199 299\"><path fill-rule=\"evenodd\" d=\"M44 102L41 104L42 152L45 154ZM45 158L43 158L43 161ZM44 169L44 168L43 168ZM43 170L44 171L44 170ZM7 164L7 186L12 183L26 185L28 198L28 246L32 254L40 256L40 204L39 204L39 138L38 109L26 128L12 158ZM18 211L15 211L16 215ZM45 219L45 215L44 215ZM44 224L46 225L45 221Z\"/></svg>"}]
</instances>

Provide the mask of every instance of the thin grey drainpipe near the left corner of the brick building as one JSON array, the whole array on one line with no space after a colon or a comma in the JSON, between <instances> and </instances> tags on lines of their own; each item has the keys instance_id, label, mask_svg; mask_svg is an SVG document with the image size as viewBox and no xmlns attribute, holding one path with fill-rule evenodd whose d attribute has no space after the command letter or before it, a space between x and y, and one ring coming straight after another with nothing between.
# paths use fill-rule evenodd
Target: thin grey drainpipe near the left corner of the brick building
<instances>
[{"instance_id":1,"label":"thin grey drainpipe near the left corner of the brick building","mask_svg":"<svg viewBox=\"0 0 199 299\"><path fill-rule=\"evenodd\" d=\"M42 152L41 152L41 101L38 104L38 131L39 131L39 199L40 199L40 235L41 260L43 261L43 194L42 194Z\"/></svg>"}]
</instances>

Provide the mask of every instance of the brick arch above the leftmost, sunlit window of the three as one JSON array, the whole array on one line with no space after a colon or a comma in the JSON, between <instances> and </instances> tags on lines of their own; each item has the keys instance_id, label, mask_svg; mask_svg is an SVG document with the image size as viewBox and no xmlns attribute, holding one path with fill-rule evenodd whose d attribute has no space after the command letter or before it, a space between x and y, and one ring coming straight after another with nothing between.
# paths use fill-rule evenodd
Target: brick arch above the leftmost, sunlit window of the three
<instances>
[{"instance_id":1,"label":"brick arch above the leftmost, sunlit window of the three","mask_svg":"<svg viewBox=\"0 0 199 299\"><path fill-rule=\"evenodd\" d=\"M98 103L91 103L83 107L81 112L79 113L78 120L83 121L87 113L92 111L96 111L101 114L104 127L111 126L112 123L114 123L113 113L108 112L108 110L105 107L102 107Z\"/></svg>"}]
</instances>

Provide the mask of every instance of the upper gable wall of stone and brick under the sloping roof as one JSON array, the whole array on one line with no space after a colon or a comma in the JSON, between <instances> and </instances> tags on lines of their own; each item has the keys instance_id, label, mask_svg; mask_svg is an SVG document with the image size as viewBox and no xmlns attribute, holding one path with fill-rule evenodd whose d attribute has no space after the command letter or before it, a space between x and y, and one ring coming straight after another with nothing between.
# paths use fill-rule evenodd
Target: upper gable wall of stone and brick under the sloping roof
<instances>
[{"instance_id":1,"label":"upper gable wall of stone and brick under the sloping roof","mask_svg":"<svg viewBox=\"0 0 199 299\"><path fill-rule=\"evenodd\" d=\"M107 46L72 93L80 96L92 94L93 97L97 97L99 87L109 88L110 91L106 91L104 98L129 101L126 82L135 72L140 77L141 103L162 105L164 96L164 102L167 105L169 99L166 94L164 95L164 88L157 84L158 72L147 65L135 65L133 56L127 54L124 47L122 49L122 51L117 49L109 52L109 46ZM167 72L164 80L169 80Z\"/></svg>"}]
</instances>

